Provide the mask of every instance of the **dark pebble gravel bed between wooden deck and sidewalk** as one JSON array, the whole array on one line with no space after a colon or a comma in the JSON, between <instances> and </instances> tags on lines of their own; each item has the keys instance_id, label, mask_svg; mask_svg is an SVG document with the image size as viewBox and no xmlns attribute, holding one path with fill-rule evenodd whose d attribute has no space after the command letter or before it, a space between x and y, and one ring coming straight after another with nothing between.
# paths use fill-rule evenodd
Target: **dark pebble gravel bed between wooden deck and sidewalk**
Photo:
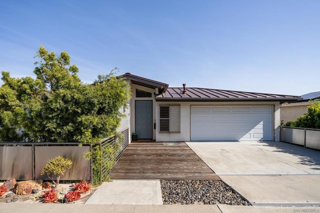
<instances>
[{"instance_id":1,"label":"dark pebble gravel bed between wooden deck and sidewalk","mask_svg":"<svg viewBox=\"0 0 320 213\"><path fill-rule=\"evenodd\" d=\"M250 205L222 181L161 180L163 204L226 204Z\"/></svg>"}]
</instances>

